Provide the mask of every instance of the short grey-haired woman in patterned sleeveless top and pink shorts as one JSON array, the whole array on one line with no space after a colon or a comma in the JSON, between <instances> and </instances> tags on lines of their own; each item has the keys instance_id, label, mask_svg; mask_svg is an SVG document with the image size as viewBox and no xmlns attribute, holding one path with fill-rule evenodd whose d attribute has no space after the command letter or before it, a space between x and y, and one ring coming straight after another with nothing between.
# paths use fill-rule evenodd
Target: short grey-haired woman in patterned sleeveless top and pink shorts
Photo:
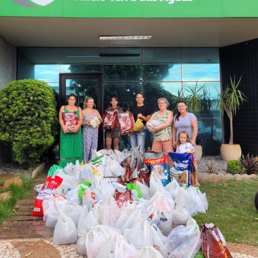
<instances>
[{"instance_id":1,"label":"short grey-haired woman in patterned sleeveless top and pink shorts","mask_svg":"<svg viewBox=\"0 0 258 258\"><path fill-rule=\"evenodd\" d=\"M161 152L164 151L165 155L168 155L168 152L173 152L172 146L172 122L173 122L173 112L167 110L169 102L166 98L161 97L158 99L158 105L160 111L155 112L150 120L146 123L147 129L150 132L153 132L153 145L152 151ZM160 126L151 127L148 124L152 120L160 121Z\"/></svg>"}]
</instances>

